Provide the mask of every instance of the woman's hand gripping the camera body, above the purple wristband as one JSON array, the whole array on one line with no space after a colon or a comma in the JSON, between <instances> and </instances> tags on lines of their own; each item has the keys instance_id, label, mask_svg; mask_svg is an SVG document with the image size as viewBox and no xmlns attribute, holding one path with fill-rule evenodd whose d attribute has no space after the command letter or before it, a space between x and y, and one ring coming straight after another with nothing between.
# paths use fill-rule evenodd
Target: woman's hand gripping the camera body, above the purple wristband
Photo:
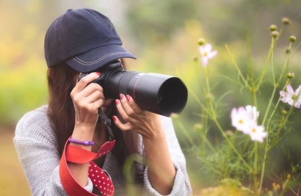
<instances>
[{"instance_id":1,"label":"woman's hand gripping the camera body, above the purple wristband","mask_svg":"<svg viewBox=\"0 0 301 196\"><path fill-rule=\"evenodd\" d=\"M98 109L104 104L105 96L103 94L103 87L90 82L99 76L99 72L92 72L86 75L79 82L76 82L75 87L70 93L75 109L75 126L95 129L98 119Z\"/></svg>"}]
</instances>

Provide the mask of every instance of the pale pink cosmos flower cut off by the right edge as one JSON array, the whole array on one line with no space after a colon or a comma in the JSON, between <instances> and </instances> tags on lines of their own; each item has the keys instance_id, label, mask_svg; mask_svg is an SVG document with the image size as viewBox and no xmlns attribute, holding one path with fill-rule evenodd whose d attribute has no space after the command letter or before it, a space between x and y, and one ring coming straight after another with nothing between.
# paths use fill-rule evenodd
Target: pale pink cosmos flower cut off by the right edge
<instances>
[{"instance_id":1,"label":"pale pink cosmos flower cut off by the right edge","mask_svg":"<svg viewBox=\"0 0 301 196\"><path fill-rule=\"evenodd\" d=\"M287 92L281 90L279 92L281 101L288 103L290 106L301 108L301 85L296 89L296 91L293 90L291 85L287 85L286 91Z\"/></svg>"}]
</instances>

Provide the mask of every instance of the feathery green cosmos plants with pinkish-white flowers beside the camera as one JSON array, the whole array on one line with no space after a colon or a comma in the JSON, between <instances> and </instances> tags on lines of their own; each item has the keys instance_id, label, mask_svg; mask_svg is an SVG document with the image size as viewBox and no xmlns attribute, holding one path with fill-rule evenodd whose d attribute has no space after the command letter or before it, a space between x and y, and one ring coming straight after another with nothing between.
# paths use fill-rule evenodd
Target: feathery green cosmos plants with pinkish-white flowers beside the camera
<instances>
[{"instance_id":1,"label":"feathery green cosmos plants with pinkish-white flowers beside the camera","mask_svg":"<svg viewBox=\"0 0 301 196\"><path fill-rule=\"evenodd\" d=\"M187 136L187 140L192 146L192 153L195 153L199 165L202 166L201 170L208 171L207 175L218 181L222 178L235 178L251 188L254 193L253 195L255 196L267 193L267 191L262 191L263 180L266 176L267 157L271 150L278 145L280 140L292 131L290 124L288 124L288 119L293 114L295 108L299 109L301 107L301 85L296 92L294 92L289 85L294 78L294 74L288 72L289 63L296 50L301 45L301 43L299 43L294 49L292 48L293 43L296 41L295 37L290 36L289 39L287 39L289 45L285 50L286 57L283 66L279 71L280 73L277 73L274 67L274 50L286 25L287 22L280 28L280 32L276 31L276 25L271 28L271 46L267 58L263 62L261 72L259 72L258 75L255 75L253 70L254 65L251 58L251 47L248 34L248 57L246 58L248 66L247 76L242 73L229 46L225 45L227 52L232 59L234 68L237 71L237 79L231 79L225 76L224 80L234 82L241 90L246 89L249 91L251 104L253 106L247 106L246 108L240 107L238 110L235 108L232 109L232 126L236 128L235 130L226 131L219 122L219 118L221 118L219 110L223 110L221 102L231 92L225 92L219 99L215 99L210 87L210 77L208 74L208 69L213 65L207 65L208 60L206 60L205 63L203 61L203 58L206 58L204 56L210 55L210 53L204 54L204 52L200 51L203 68L201 69L199 84L201 92L205 95L205 99L199 99L199 96L189 89L189 92L194 96L195 102L201 108L201 113L195 114L201 118L201 122L194 125L194 129L199 132L199 143L196 143L188 131L181 126L183 133ZM202 49L204 42L199 44L201 44L200 49ZM209 51L211 51L211 49ZM197 70L199 70L200 67L198 59L199 58L194 58ZM258 118L258 92L264 83L264 78L266 78L268 69L271 70L268 73L271 74L270 77L272 81L270 83L273 90L270 94L268 103L265 103L267 105L266 109L263 110L259 108L260 112L264 111L263 118L261 116L261 118ZM287 92L284 91L285 88L287 89ZM281 96L279 96L279 91ZM276 101L274 102L275 99ZM288 103L290 106L282 106L280 101ZM246 101L245 104L250 104L250 102ZM172 115L172 118L179 123L179 119L176 115ZM216 145L210 141L209 132L213 128L209 126L209 121L215 125L215 128L222 136L222 141ZM258 125L259 121L261 124L260 126ZM262 143L265 137L265 142ZM272 164L273 162L270 161L268 163ZM289 174L289 176L294 175L294 180L292 180L291 177L283 179L281 190L280 187L277 187L277 192L273 192L272 195L278 195L278 191L280 190L279 195L283 196L289 190L288 187L297 188L301 183L301 174L296 173L296 170L299 171L299 169L297 169L298 165L299 164L297 164L297 166L292 166ZM293 172L293 170L295 170L295 172ZM228 180L228 184L233 184L233 182L235 181ZM219 190L219 188L214 190ZM217 193L218 192L215 194Z\"/></svg>"}]
</instances>

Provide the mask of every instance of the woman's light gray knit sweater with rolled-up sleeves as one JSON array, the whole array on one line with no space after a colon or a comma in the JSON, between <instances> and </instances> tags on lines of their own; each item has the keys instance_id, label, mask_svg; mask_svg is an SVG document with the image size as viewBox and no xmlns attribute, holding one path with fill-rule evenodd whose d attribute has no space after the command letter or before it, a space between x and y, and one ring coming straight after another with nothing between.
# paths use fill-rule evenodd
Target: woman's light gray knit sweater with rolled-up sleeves
<instances>
[{"instance_id":1,"label":"woman's light gray knit sweater with rolled-up sleeves","mask_svg":"<svg viewBox=\"0 0 301 196\"><path fill-rule=\"evenodd\" d=\"M16 126L13 142L29 184L32 196L67 196L59 176L60 154L57 140L46 114L47 105L24 114ZM169 196L190 196L192 189L186 171L186 162L179 146L169 117L161 116L162 126L166 134L169 152L176 169L172 192ZM138 150L144 154L142 136L138 137ZM110 174L115 186L115 196L126 195L125 179L122 168L117 165L115 157L109 152L103 169ZM87 191L96 194L95 187L88 177ZM141 195L161 196L152 188L148 177L148 167L144 170L144 188Z\"/></svg>"}]
</instances>

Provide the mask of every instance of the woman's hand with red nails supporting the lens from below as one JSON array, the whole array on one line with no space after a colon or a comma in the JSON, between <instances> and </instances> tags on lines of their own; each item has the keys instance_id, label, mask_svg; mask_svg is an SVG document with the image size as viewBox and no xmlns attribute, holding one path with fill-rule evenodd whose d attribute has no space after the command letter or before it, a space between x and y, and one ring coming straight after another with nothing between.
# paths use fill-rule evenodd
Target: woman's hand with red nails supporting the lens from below
<instances>
[{"instance_id":1,"label":"woman's hand with red nails supporting the lens from below","mask_svg":"<svg viewBox=\"0 0 301 196\"><path fill-rule=\"evenodd\" d=\"M115 104L125 124L117 116L113 116L115 125L121 131L133 130L144 138L155 139L162 131L162 124L158 114L140 109L129 95L120 94L120 100L115 99Z\"/></svg>"}]
</instances>

